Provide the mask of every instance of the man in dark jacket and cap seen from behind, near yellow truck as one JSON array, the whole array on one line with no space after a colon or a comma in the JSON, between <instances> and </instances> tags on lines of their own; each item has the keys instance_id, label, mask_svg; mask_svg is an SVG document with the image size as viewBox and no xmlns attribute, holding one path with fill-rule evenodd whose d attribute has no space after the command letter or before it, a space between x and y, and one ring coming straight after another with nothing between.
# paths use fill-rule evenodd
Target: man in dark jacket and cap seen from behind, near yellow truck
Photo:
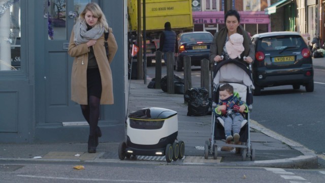
<instances>
[{"instance_id":1,"label":"man in dark jacket and cap seen from behind, near yellow truck","mask_svg":"<svg viewBox=\"0 0 325 183\"><path fill-rule=\"evenodd\" d=\"M160 34L160 43L159 43L159 51L164 53L164 60L167 60L167 52L171 51L175 53L177 56L178 52L178 45L177 45L177 38L176 33L172 31L171 23L165 23L165 31Z\"/></svg>"}]
</instances>

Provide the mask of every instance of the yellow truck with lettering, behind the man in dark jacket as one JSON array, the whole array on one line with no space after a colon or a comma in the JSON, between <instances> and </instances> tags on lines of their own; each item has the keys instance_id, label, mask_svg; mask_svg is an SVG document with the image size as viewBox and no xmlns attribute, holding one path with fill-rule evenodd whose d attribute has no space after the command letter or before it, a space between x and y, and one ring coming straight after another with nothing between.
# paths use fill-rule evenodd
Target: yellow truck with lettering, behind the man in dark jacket
<instances>
[{"instance_id":1,"label":"yellow truck with lettering, behind the man in dark jacket","mask_svg":"<svg viewBox=\"0 0 325 183\"><path fill-rule=\"evenodd\" d=\"M171 22L177 34L192 31L192 0L146 0L146 56L150 66L159 48L159 34L165 22ZM138 0L127 1L129 40L136 41L138 31ZM141 30L143 31L143 1L141 0Z\"/></svg>"}]
</instances>

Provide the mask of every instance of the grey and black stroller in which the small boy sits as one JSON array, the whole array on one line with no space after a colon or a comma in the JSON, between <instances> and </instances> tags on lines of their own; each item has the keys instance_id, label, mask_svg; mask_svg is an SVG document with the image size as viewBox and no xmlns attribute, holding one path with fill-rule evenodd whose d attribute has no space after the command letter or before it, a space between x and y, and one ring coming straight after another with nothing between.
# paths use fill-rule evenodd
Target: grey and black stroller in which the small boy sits
<instances>
[{"instance_id":1,"label":"grey and black stroller in which the small boy sits","mask_svg":"<svg viewBox=\"0 0 325 183\"><path fill-rule=\"evenodd\" d=\"M251 65L249 67L244 62L237 59L223 60L213 67L213 82L212 82L212 111L219 103L219 87L224 83L229 83L234 87L234 92L239 93L241 101L246 102L248 113L242 121L240 130L239 142L241 144L226 143L221 117L216 117L212 112L211 123L211 138L205 142L204 158L208 159L209 155L213 155L217 159L217 147L228 146L240 148L242 160L246 160L246 156L250 157L251 161L255 159L255 149L250 143L249 132L249 112L252 110L252 90L254 89L251 75Z\"/></svg>"}]
</instances>

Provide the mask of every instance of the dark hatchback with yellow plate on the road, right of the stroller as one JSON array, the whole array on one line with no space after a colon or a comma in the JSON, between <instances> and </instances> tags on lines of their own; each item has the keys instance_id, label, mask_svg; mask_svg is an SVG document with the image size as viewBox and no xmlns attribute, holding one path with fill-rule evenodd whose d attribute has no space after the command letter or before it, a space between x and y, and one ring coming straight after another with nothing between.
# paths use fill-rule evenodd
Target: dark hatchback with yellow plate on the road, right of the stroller
<instances>
[{"instance_id":1,"label":"dark hatchback with yellow plate on the road, right of the stroller","mask_svg":"<svg viewBox=\"0 0 325 183\"><path fill-rule=\"evenodd\" d=\"M252 37L255 59L252 65L253 95L270 86L293 85L306 92L314 90L311 51L300 33L271 32Z\"/></svg>"}]
</instances>

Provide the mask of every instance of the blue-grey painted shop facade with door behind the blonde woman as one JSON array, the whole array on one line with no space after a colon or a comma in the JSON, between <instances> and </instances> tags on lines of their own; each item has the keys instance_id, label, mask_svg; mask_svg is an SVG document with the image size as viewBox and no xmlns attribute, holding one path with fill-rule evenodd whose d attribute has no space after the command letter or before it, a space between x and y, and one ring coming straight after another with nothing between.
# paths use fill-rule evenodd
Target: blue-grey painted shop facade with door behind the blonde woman
<instances>
[{"instance_id":1,"label":"blue-grey painted shop facade with door behind the blonde woman","mask_svg":"<svg viewBox=\"0 0 325 183\"><path fill-rule=\"evenodd\" d=\"M0 0L0 143L87 141L89 127L70 100L73 58L67 51L89 2L103 9L118 44L111 64L115 103L101 108L100 140L124 139L126 0Z\"/></svg>"}]
</instances>

